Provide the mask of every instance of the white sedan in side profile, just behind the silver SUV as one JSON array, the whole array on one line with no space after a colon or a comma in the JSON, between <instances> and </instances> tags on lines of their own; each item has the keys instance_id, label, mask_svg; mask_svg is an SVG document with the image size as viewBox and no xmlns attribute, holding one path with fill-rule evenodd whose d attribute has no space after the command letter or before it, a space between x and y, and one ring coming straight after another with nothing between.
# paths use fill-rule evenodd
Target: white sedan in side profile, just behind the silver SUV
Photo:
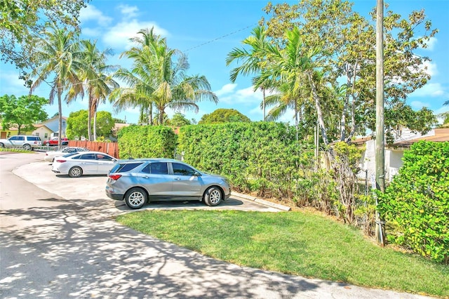
<instances>
[{"instance_id":1,"label":"white sedan in side profile, just behind the silver SUV","mask_svg":"<svg viewBox=\"0 0 449 299\"><path fill-rule=\"evenodd\" d=\"M116 161L117 159L104 152L76 152L56 157L51 170L72 178L81 175L106 175Z\"/></svg>"}]
</instances>

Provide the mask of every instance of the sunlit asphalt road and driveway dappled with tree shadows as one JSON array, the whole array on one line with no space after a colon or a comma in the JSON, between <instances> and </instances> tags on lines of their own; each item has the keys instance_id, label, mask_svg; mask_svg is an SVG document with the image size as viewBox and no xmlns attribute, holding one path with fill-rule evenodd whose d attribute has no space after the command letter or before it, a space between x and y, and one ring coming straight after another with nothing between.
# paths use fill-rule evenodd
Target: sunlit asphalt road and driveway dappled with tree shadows
<instances>
[{"instance_id":1,"label":"sunlit asphalt road and driveway dappled with tree shadows","mask_svg":"<svg viewBox=\"0 0 449 299\"><path fill-rule=\"evenodd\" d=\"M0 298L424 298L239 267L135 232L114 221L128 209L105 180L57 176L42 153L0 155ZM276 211L252 205L219 208Z\"/></svg>"}]
</instances>

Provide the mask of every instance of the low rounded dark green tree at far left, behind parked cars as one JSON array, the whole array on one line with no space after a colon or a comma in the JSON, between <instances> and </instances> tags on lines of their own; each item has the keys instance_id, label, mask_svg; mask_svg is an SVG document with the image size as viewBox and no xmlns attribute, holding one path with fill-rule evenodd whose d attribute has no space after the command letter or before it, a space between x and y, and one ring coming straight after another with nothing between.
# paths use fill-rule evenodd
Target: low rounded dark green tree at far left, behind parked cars
<instances>
[{"instance_id":1,"label":"low rounded dark green tree at far left, behind parked cars","mask_svg":"<svg viewBox=\"0 0 449 299\"><path fill-rule=\"evenodd\" d=\"M34 130L33 124L45 121L48 117L43 109L48 104L46 98L37 95L22 95L16 98L14 95L0 97L1 126L8 129L17 126L18 135L22 130Z\"/></svg>"}]
</instances>

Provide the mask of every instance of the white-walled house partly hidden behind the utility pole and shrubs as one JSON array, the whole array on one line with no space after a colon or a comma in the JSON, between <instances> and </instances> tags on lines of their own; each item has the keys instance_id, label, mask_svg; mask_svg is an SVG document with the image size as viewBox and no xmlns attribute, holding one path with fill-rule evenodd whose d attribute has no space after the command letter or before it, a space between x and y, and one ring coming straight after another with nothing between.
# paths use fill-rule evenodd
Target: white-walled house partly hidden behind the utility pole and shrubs
<instances>
[{"instance_id":1,"label":"white-walled house partly hidden behind the utility pole and shrubs","mask_svg":"<svg viewBox=\"0 0 449 299\"><path fill-rule=\"evenodd\" d=\"M406 150L415 142L421 140L445 142L449 141L449 128L434 128L425 135L413 133L408 129L403 129L396 133L395 140L392 145L385 145L385 180L391 181L401 168L402 157ZM366 148L362 153L359 178L373 180L375 178L375 140L370 136L353 140L356 145L365 145Z\"/></svg>"}]
</instances>

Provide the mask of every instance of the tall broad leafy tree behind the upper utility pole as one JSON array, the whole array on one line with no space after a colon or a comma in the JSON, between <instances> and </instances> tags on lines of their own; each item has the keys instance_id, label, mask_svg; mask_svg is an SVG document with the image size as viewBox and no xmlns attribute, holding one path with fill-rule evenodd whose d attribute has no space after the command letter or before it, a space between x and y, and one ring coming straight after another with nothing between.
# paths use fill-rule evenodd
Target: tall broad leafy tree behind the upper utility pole
<instances>
[{"instance_id":1,"label":"tall broad leafy tree behind the upper utility pole","mask_svg":"<svg viewBox=\"0 0 449 299\"><path fill-rule=\"evenodd\" d=\"M325 74L326 81L333 82L333 88L338 87L335 83L346 86L346 94L340 98L340 117L334 120L340 123L341 130L335 139L349 141L354 133L364 133L366 128L374 131L375 11L367 20L344 0L301 0L292 6L269 4L265 11L272 15L267 20L267 34L272 39L282 45L284 32L297 27L305 49L321 48L323 64L318 70ZM384 30L385 105L401 109L407 95L429 79L424 67L429 58L415 52L425 48L437 30L431 29L424 11L413 11L408 18L388 11Z\"/></svg>"}]
</instances>

